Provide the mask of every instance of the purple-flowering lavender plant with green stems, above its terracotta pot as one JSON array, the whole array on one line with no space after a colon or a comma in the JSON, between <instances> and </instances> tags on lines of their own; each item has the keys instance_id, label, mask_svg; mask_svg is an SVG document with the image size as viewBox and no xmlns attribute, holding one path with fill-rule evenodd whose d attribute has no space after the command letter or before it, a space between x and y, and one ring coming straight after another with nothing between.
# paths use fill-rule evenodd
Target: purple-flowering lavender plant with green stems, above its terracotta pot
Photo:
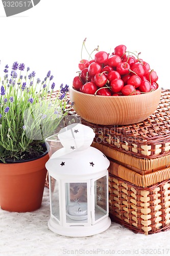
<instances>
[{"instance_id":1,"label":"purple-flowering lavender plant with green stems, above its terracotta pot","mask_svg":"<svg viewBox=\"0 0 170 256\"><path fill-rule=\"evenodd\" d=\"M44 80L15 61L0 77L0 161L32 159L45 150L45 138L54 134L67 115L67 84L53 97L55 82L51 71Z\"/></svg>"}]
</instances>

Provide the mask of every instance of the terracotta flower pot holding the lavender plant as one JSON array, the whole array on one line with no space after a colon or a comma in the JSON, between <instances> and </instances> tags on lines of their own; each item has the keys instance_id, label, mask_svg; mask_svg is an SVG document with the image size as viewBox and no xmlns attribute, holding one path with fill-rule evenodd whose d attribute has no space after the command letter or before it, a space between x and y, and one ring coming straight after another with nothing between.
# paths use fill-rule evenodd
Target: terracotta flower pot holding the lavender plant
<instances>
[{"instance_id":1,"label":"terracotta flower pot holding the lavender plant","mask_svg":"<svg viewBox=\"0 0 170 256\"><path fill-rule=\"evenodd\" d=\"M22 163L0 163L0 205L7 211L26 212L42 203L48 154Z\"/></svg>"}]
</instances>

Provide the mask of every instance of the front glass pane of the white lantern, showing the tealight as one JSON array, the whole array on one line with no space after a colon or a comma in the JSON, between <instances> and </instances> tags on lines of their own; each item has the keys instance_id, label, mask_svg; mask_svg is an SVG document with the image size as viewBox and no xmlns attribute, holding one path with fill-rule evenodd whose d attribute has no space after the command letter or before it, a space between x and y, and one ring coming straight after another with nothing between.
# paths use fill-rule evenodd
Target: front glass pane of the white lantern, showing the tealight
<instances>
[{"instance_id":1,"label":"front glass pane of the white lantern, showing the tealight","mask_svg":"<svg viewBox=\"0 0 170 256\"><path fill-rule=\"evenodd\" d=\"M66 222L87 222L87 183L66 183Z\"/></svg>"}]
</instances>

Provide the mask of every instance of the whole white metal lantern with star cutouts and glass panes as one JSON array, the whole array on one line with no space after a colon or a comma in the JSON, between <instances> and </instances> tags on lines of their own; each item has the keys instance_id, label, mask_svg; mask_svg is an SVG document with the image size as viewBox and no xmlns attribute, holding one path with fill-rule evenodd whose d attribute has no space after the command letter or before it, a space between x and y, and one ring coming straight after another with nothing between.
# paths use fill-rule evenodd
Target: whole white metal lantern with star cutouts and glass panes
<instances>
[{"instance_id":1,"label":"whole white metal lantern with star cutouts and glass panes","mask_svg":"<svg viewBox=\"0 0 170 256\"><path fill-rule=\"evenodd\" d=\"M109 160L90 146L95 133L81 123L58 134L63 145L47 161L51 218L48 227L63 236L84 237L103 232L108 216Z\"/></svg>"}]
</instances>

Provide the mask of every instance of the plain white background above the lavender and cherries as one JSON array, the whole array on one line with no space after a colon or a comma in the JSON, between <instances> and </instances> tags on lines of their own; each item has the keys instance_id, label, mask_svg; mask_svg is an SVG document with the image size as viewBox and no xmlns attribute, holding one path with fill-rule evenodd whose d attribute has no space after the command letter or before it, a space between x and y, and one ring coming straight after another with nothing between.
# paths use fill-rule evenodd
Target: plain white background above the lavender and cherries
<instances>
[{"instance_id":1,"label":"plain white background above the lavender and cherries","mask_svg":"<svg viewBox=\"0 0 170 256\"><path fill-rule=\"evenodd\" d=\"M168 0L41 0L34 8L6 17L0 2L1 70L24 62L41 80L48 70L56 84L71 84L77 75L81 47L91 52L117 45L141 52L157 72L158 83L169 88ZM86 52L83 52L83 57ZM2 76L2 73L1 73Z\"/></svg>"}]
</instances>

